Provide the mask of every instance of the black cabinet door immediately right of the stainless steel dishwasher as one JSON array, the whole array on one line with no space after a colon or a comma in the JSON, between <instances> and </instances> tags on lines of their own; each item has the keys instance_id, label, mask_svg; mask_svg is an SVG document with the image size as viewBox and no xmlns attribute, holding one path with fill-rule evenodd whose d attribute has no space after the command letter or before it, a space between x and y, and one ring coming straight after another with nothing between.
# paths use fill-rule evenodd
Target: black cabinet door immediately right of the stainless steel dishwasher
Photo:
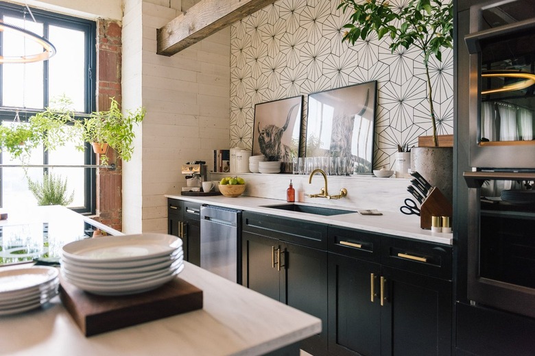
<instances>
[{"instance_id":1,"label":"black cabinet door immediately right of the stainless steel dishwasher","mask_svg":"<svg viewBox=\"0 0 535 356\"><path fill-rule=\"evenodd\" d=\"M284 251L280 249L281 243L274 238L243 232L243 285L276 301L281 300L278 257L282 257Z\"/></svg>"}]
</instances>

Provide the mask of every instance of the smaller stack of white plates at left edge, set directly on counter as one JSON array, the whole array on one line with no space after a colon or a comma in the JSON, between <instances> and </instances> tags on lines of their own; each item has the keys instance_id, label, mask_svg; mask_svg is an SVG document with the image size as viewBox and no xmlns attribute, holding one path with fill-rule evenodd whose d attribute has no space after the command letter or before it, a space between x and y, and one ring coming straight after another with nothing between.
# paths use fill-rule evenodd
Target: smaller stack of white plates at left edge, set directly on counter
<instances>
[{"instance_id":1,"label":"smaller stack of white plates at left edge, set directly on counter","mask_svg":"<svg viewBox=\"0 0 535 356\"><path fill-rule=\"evenodd\" d=\"M58 294L57 268L34 266L0 272L0 316L26 312Z\"/></svg>"}]
</instances>

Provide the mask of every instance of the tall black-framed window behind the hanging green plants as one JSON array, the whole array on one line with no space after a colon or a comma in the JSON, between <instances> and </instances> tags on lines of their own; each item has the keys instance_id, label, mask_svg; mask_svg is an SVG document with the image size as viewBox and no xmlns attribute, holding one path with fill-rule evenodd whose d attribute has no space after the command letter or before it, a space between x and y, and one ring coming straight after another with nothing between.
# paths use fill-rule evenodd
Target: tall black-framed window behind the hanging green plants
<instances>
[{"instance_id":1,"label":"tall black-framed window behind the hanging green plants","mask_svg":"<svg viewBox=\"0 0 535 356\"><path fill-rule=\"evenodd\" d=\"M0 64L1 125L18 125L18 120L24 122L45 107L54 107L61 97L71 101L75 117L80 120L95 111L95 21L34 8L28 10L26 6L1 1L0 16L4 23L43 36L56 47L56 55L46 61ZM30 40L0 31L0 55L24 55L42 50ZM36 199L27 188L27 179L41 181L44 173L51 173L67 179L68 192L74 192L71 209L86 214L95 212L95 168L81 167L97 163L88 144L84 152L76 150L74 145L54 151L36 149L24 167L12 167L21 161L14 160L5 151L0 153L0 160L1 207L36 205Z\"/></svg>"}]
</instances>

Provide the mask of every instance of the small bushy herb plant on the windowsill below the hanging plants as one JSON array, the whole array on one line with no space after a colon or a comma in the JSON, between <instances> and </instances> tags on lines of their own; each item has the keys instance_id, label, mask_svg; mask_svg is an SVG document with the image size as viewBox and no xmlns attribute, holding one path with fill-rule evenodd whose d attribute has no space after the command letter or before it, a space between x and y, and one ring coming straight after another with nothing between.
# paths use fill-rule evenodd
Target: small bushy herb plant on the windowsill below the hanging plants
<instances>
[{"instance_id":1,"label":"small bushy herb plant on the windowsill below the hanging plants","mask_svg":"<svg viewBox=\"0 0 535 356\"><path fill-rule=\"evenodd\" d=\"M37 199L37 205L64 205L74 200L74 192L67 192L67 178L45 173L43 181L32 181L28 177L28 188Z\"/></svg>"}]
</instances>

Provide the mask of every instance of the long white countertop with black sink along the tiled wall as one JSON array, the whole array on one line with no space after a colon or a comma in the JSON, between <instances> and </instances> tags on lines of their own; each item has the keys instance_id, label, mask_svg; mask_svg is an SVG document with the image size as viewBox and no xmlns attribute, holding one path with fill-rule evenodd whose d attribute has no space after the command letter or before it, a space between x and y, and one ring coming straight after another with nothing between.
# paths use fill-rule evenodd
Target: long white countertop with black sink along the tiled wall
<instances>
[{"instance_id":1,"label":"long white countertop with black sink along the tiled wall","mask_svg":"<svg viewBox=\"0 0 535 356\"><path fill-rule=\"evenodd\" d=\"M412 238L440 244L453 244L453 233L436 233L431 230L420 229L420 216L405 215L397 211L381 211L383 215L361 215L357 209L348 207L336 207L344 210L353 210L355 213L322 216L316 214L306 214L302 212L291 212L287 210L271 209L265 205L280 205L286 201L278 199L257 198L254 196L238 196L229 198L226 196L183 196L166 194L167 198L180 199L183 201L192 201L202 204L213 204L233 209L243 209L250 212L270 214L274 216L284 216L287 218L296 218L300 220L314 221L315 223L324 223L336 225L339 227L348 227L350 229L360 229L384 233L390 236L399 236L401 238ZM296 203L302 204L302 203ZM304 204L335 208L333 205Z\"/></svg>"}]
</instances>

